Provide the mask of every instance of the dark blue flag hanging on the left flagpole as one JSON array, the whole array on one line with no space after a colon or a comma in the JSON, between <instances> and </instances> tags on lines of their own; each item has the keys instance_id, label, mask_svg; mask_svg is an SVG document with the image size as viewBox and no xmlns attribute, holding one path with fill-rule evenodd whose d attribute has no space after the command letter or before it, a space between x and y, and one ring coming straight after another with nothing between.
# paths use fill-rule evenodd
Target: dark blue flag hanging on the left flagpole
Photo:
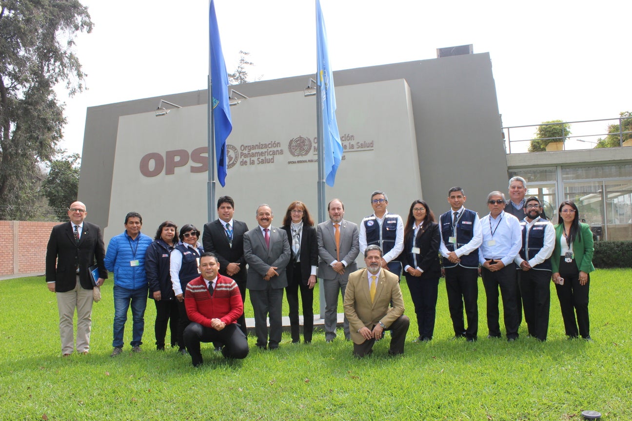
<instances>
[{"instance_id":1,"label":"dark blue flag hanging on the left flagpole","mask_svg":"<svg viewBox=\"0 0 632 421\"><path fill-rule=\"evenodd\" d=\"M222 43L219 40L219 28L217 28L215 6L212 0L209 9L209 35L210 80L213 94L213 127L215 132L217 179L219 180L219 184L224 187L224 185L226 185L226 170L228 169L226 139L233 130L233 123L231 122L231 109L228 103L228 73L226 73L226 63L224 63Z\"/></svg>"}]
</instances>

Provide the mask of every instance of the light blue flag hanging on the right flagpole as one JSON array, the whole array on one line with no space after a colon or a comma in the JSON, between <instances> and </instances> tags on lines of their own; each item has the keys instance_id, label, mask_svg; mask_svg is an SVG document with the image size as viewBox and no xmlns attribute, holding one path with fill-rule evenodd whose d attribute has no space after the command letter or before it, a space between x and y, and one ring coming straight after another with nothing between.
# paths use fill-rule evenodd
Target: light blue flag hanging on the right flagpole
<instances>
[{"instance_id":1,"label":"light blue flag hanging on the right flagpole","mask_svg":"<svg viewBox=\"0 0 632 421\"><path fill-rule=\"evenodd\" d=\"M343 157L343 144L340 142L338 124L336 122L336 95L334 95L334 77L329 64L327 51L327 32L322 18L320 0L316 0L316 52L318 57L317 83L320 86L322 134L320 141L324 145L325 181L334 186L336 171Z\"/></svg>"}]
</instances>

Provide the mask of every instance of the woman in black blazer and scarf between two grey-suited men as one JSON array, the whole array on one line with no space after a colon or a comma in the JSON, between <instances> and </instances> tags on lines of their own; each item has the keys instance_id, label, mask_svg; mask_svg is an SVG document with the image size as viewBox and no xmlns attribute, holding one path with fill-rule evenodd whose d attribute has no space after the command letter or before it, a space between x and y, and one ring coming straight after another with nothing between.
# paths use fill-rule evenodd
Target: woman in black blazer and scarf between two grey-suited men
<instances>
[{"instance_id":1,"label":"woman in black blazer and scarf between two grey-suited men","mask_svg":"<svg viewBox=\"0 0 632 421\"><path fill-rule=\"evenodd\" d=\"M289 326L292 343L301 341L298 323L298 290L301 290L303 305L303 340L312 342L314 324L313 287L316 285L318 268L318 242L316 228L305 203L294 201L289 204L283 218L283 228L288 234L291 257L286 273L288 286L285 288L289 304Z\"/></svg>"}]
</instances>

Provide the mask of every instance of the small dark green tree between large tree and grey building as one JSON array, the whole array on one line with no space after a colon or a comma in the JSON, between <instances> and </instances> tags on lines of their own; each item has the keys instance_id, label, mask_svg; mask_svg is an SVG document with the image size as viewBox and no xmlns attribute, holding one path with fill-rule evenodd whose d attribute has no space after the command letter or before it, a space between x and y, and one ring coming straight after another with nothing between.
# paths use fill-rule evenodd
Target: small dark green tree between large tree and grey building
<instances>
[{"instance_id":1,"label":"small dark green tree between large tree and grey building","mask_svg":"<svg viewBox=\"0 0 632 421\"><path fill-rule=\"evenodd\" d=\"M62 155L51 161L51 170L42 183L48 205L54 208L58 220L68 219L66 208L77 199L79 191L79 154Z\"/></svg>"}]
</instances>

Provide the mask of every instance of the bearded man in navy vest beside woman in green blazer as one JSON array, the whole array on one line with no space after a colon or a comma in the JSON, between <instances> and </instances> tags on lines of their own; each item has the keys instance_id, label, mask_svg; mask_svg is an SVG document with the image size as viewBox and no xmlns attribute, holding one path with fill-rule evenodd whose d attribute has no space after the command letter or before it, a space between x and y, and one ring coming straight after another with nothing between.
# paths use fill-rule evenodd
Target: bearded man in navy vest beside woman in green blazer
<instances>
[{"instance_id":1,"label":"bearded man in navy vest beside woman in green blazer","mask_svg":"<svg viewBox=\"0 0 632 421\"><path fill-rule=\"evenodd\" d=\"M541 218L540 209L540 199L526 199L526 217L520 223L522 247L514 261L518 265L518 282L529 335L545 341L549 330L550 256L555 246L555 228Z\"/></svg>"}]
</instances>

